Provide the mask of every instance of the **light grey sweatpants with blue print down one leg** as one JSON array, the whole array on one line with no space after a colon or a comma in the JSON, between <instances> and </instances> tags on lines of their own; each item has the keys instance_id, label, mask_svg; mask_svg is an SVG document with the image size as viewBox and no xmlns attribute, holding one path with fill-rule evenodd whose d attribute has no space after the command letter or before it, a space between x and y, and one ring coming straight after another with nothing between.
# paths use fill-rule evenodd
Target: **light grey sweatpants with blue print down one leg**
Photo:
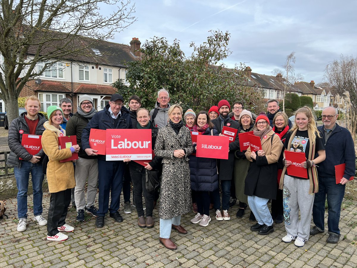
<instances>
[{"instance_id":1,"label":"light grey sweatpants with blue print down one leg","mask_svg":"<svg viewBox=\"0 0 357 268\"><path fill-rule=\"evenodd\" d=\"M287 234L309 240L315 194L309 194L310 181L284 176L283 209ZM299 220L300 210L300 220Z\"/></svg>"}]
</instances>

